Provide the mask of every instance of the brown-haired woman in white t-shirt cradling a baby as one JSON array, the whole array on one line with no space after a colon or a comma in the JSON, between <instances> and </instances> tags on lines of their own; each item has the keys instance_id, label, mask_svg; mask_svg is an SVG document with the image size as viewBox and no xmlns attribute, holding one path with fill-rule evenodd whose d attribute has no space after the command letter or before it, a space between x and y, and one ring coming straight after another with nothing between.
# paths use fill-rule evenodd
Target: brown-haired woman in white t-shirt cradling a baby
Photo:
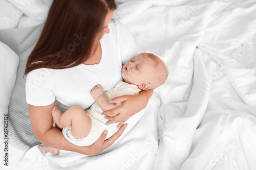
<instances>
[{"instance_id":1,"label":"brown-haired woman in white t-shirt cradling a baby","mask_svg":"<svg viewBox=\"0 0 256 170\"><path fill-rule=\"evenodd\" d=\"M122 80L122 63L139 53L131 33L121 23L111 21L115 10L114 0L53 1L25 70L32 129L45 144L40 149L96 155L119 138L127 119L146 107L153 90L113 99L113 103L123 105L103 114L110 120L107 123L120 122L120 129L108 140L102 133L90 147L68 142L60 129L53 127L55 100L62 111L71 106L90 107L94 102L90 90L97 84L104 91L113 88Z\"/></svg>"}]
</instances>

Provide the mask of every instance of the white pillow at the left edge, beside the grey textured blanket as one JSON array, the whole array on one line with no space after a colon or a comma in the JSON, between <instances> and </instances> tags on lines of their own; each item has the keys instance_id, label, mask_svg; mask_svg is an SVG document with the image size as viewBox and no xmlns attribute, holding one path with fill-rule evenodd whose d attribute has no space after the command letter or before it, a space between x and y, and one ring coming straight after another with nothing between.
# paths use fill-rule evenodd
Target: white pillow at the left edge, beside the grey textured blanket
<instances>
[{"instance_id":1,"label":"white pillow at the left edge, beside the grey textured blanket","mask_svg":"<svg viewBox=\"0 0 256 170\"><path fill-rule=\"evenodd\" d=\"M8 113L8 105L16 79L19 57L9 46L1 41L0 61L0 125L3 125L4 114ZM0 132L2 132L3 128L4 126L0 127Z\"/></svg>"}]
</instances>

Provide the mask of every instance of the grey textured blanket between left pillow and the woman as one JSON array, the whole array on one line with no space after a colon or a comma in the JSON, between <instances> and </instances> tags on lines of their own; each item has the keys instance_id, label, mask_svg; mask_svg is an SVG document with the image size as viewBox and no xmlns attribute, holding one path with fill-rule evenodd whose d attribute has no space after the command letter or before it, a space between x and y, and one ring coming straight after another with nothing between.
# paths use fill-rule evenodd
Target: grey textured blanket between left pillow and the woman
<instances>
[{"instance_id":1,"label":"grey textured blanket between left pillow and the woman","mask_svg":"<svg viewBox=\"0 0 256 170\"><path fill-rule=\"evenodd\" d=\"M0 30L0 41L7 44L18 56L19 65L8 107L8 136L10 144L27 151L40 141L35 137L29 118L23 77L26 61L40 36L42 25L31 28Z\"/></svg>"}]
</instances>

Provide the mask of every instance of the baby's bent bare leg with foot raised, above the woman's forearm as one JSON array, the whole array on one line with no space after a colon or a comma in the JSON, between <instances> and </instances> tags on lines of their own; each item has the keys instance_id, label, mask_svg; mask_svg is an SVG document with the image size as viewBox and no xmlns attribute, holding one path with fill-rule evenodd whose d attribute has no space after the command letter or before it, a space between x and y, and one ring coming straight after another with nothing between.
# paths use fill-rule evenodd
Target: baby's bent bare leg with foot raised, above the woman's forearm
<instances>
[{"instance_id":1,"label":"baby's bent bare leg with foot raised, above the woman's forearm","mask_svg":"<svg viewBox=\"0 0 256 170\"><path fill-rule=\"evenodd\" d=\"M75 138L86 137L92 128L90 117L79 106L73 106L61 114L59 106L55 105L52 116L60 128L71 126L71 133Z\"/></svg>"}]
</instances>

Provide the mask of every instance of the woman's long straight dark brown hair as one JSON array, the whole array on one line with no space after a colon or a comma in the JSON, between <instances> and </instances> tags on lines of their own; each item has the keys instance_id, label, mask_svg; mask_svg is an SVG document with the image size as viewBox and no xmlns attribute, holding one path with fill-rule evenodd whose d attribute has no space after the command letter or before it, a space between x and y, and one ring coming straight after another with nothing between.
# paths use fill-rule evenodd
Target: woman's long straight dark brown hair
<instances>
[{"instance_id":1,"label":"woman's long straight dark brown hair","mask_svg":"<svg viewBox=\"0 0 256 170\"><path fill-rule=\"evenodd\" d=\"M63 69L88 60L114 0L53 0L24 75L38 68Z\"/></svg>"}]
</instances>

